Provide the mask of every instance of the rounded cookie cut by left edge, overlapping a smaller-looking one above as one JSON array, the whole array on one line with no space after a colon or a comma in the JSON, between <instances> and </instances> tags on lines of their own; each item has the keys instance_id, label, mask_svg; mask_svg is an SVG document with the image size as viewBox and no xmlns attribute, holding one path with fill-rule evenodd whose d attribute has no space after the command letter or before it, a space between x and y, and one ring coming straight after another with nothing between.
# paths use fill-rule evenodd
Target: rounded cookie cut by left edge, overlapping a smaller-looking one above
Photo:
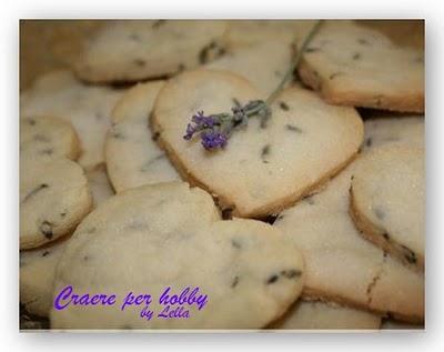
<instances>
[{"instance_id":1,"label":"rounded cookie cut by left edge, overlapping a smaller-looking one above","mask_svg":"<svg viewBox=\"0 0 444 352\"><path fill-rule=\"evenodd\" d=\"M88 180L79 164L64 158L41 162L20 157L20 249L70 233L91 205Z\"/></svg>"}]
</instances>

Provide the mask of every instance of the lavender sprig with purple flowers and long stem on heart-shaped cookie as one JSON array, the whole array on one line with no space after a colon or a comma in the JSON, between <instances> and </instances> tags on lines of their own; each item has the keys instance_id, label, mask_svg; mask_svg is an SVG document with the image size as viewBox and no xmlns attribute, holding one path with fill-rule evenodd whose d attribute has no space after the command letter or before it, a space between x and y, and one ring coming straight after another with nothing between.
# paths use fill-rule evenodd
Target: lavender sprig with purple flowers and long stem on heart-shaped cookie
<instances>
[{"instance_id":1,"label":"lavender sprig with purple flowers and long stem on heart-shaped cookie","mask_svg":"<svg viewBox=\"0 0 444 352\"><path fill-rule=\"evenodd\" d=\"M206 150L224 148L232 132L240 128L245 128L251 117L259 117L262 128L266 127L268 120L271 118L271 103L276 99L281 90L285 87L289 80L293 77L294 70L297 68L309 42L317 32L322 20L317 20L309 34L305 37L302 47L297 50L291 67L286 71L284 78L279 83L276 89L266 98L266 100L252 100L245 105L242 105L238 100L234 100L234 107L231 108L231 113L215 113L204 115L203 111L199 111L191 118L191 123L186 125L186 132L183 138L191 140L195 134L201 138L201 143Z\"/></svg>"}]
</instances>

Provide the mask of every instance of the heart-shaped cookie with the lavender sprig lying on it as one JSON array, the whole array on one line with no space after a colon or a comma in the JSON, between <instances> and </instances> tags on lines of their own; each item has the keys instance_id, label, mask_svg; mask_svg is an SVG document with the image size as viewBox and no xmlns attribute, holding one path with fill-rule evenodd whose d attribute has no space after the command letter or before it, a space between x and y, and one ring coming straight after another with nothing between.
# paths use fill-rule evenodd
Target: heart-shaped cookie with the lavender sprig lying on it
<instances>
[{"instance_id":1,"label":"heart-shaped cookie with the lavender sprig lying on it","mask_svg":"<svg viewBox=\"0 0 444 352\"><path fill-rule=\"evenodd\" d=\"M345 167L363 140L352 108L325 104L315 93L289 88L272 104L265 125L258 117L235 131L223 150L205 151L183 135L191 117L228 112L233 100L263 98L228 71L199 70L171 79L151 115L158 142L181 175L214 194L239 217L279 212Z\"/></svg>"}]
</instances>

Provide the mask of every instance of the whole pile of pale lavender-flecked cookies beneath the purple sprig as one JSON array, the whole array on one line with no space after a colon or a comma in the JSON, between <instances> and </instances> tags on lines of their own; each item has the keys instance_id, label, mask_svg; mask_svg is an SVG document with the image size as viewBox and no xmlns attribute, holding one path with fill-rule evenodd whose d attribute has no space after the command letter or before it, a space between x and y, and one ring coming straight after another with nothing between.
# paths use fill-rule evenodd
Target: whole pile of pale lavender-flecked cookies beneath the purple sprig
<instances>
[{"instance_id":1,"label":"whole pile of pale lavender-flecked cookies beneath the purple sprig","mask_svg":"<svg viewBox=\"0 0 444 352\"><path fill-rule=\"evenodd\" d=\"M21 92L23 316L57 330L423 329L423 52L359 22L313 26L107 21L69 69ZM223 148L184 138L270 94L268 118ZM165 289L186 288L202 301L158 315Z\"/></svg>"}]
</instances>

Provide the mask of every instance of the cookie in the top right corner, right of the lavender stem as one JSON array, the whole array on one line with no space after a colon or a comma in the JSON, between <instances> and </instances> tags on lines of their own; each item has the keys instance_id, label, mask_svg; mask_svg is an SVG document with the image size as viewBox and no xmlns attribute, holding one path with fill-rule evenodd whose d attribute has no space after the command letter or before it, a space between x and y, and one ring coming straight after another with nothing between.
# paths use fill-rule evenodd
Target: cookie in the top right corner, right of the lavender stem
<instances>
[{"instance_id":1,"label":"cookie in the top right corner, right of the lavender stem","mask_svg":"<svg viewBox=\"0 0 444 352\"><path fill-rule=\"evenodd\" d=\"M329 103L424 111L423 53L398 48L369 28L324 22L305 49L299 73Z\"/></svg>"}]
</instances>

